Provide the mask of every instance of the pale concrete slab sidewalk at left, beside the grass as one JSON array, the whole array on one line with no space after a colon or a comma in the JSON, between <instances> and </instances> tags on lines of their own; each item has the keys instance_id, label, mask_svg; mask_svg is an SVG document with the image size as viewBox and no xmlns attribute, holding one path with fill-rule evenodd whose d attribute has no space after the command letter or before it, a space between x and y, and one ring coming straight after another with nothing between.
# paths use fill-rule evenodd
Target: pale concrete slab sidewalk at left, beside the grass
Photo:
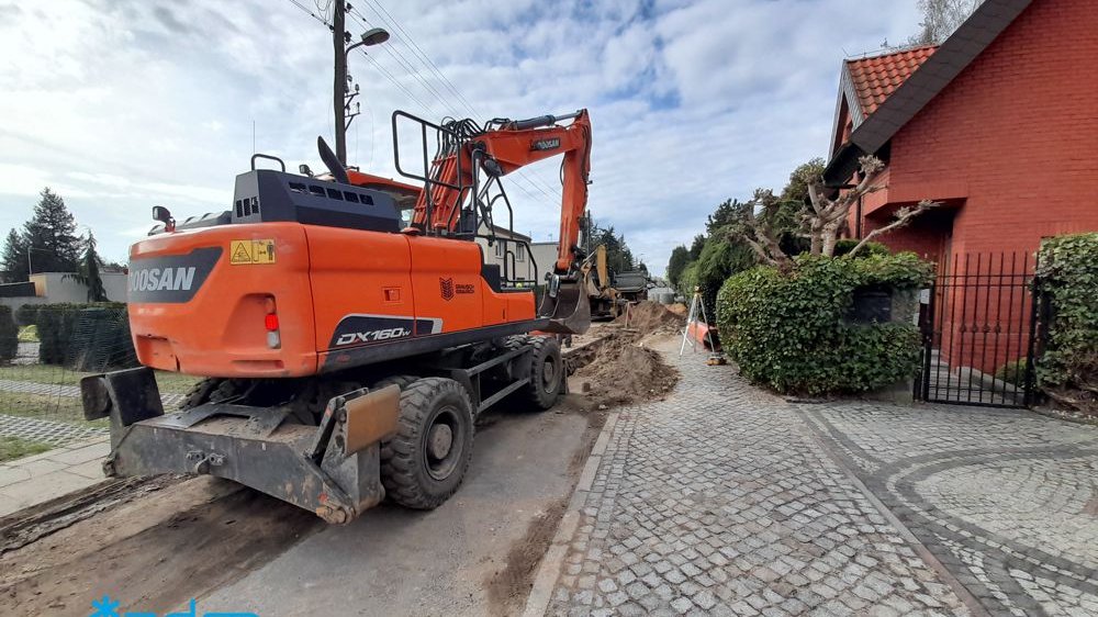
<instances>
[{"instance_id":1,"label":"pale concrete slab sidewalk at left, beside the grass","mask_svg":"<svg viewBox=\"0 0 1098 617\"><path fill-rule=\"evenodd\" d=\"M107 436L0 464L0 516L7 516L105 480Z\"/></svg>"}]
</instances>

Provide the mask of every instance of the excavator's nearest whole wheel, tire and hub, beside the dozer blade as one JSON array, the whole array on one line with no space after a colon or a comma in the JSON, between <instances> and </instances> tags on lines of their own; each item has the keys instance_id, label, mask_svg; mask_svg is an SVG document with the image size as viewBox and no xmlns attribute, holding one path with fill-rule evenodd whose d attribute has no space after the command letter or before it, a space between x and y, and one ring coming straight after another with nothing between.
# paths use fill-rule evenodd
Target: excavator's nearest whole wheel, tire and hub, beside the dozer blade
<instances>
[{"instance_id":1,"label":"excavator's nearest whole wheel, tire and hub, beside the dozer blade","mask_svg":"<svg viewBox=\"0 0 1098 617\"><path fill-rule=\"evenodd\" d=\"M394 435L381 448L385 494L413 509L434 509L461 485L473 448L469 393L452 379L417 379L401 391Z\"/></svg>"}]
</instances>

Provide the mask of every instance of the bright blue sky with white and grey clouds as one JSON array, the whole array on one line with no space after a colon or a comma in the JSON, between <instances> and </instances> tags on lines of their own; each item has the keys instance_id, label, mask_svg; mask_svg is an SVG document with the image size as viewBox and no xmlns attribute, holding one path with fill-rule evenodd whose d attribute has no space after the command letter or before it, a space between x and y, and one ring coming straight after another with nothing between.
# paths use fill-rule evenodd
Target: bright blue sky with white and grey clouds
<instances>
[{"instance_id":1,"label":"bright blue sky with white and grey clouds","mask_svg":"<svg viewBox=\"0 0 1098 617\"><path fill-rule=\"evenodd\" d=\"M0 0L0 234L59 193L104 259L153 205L228 207L254 152L323 169L325 0ZM918 31L915 0L351 0L361 114L348 162L385 177L391 115L522 119L586 108L589 209L662 272L706 216L827 155L844 57ZM302 7L306 10L302 10ZM559 159L507 179L517 232L556 239Z\"/></svg>"}]
</instances>

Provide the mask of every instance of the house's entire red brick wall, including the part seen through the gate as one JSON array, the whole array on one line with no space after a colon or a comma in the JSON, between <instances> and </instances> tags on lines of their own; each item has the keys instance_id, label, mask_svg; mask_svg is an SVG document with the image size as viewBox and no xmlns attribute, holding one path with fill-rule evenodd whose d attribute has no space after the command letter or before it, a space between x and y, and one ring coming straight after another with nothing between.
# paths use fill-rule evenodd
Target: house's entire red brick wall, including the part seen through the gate
<instances>
[{"instance_id":1,"label":"house's entire red brick wall, including the part seen through the gate","mask_svg":"<svg viewBox=\"0 0 1098 617\"><path fill-rule=\"evenodd\" d=\"M1045 236L1098 229L1096 57L1093 1L1034 0L893 137L888 190L863 203L863 234L920 199L945 201L949 217L883 243L998 260L1032 255ZM951 290L940 305L943 358L990 372L1024 356L1029 298L1016 293Z\"/></svg>"}]
</instances>

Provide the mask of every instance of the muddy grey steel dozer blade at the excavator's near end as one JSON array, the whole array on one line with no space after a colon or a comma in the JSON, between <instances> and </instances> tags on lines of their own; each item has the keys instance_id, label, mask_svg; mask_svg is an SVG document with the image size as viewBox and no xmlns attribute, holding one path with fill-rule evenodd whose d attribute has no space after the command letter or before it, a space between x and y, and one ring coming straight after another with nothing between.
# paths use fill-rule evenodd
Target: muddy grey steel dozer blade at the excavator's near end
<instances>
[{"instance_id":1,"label":"muddy grey steel dozer blade at the excavator's near end","mask_svg":"<svg viewBox=\"0 0 1098 617\"><path fill-rule=\"evenodd\" d=\"M285 406L206 403L165 414L147 368L87 377L80 386L85 416L111 418L107 475L216 475L335 524L384 497L380 441L396 429L396 386L332 399L320 426L283 422Z\"/></svg>"}]
</instances>

